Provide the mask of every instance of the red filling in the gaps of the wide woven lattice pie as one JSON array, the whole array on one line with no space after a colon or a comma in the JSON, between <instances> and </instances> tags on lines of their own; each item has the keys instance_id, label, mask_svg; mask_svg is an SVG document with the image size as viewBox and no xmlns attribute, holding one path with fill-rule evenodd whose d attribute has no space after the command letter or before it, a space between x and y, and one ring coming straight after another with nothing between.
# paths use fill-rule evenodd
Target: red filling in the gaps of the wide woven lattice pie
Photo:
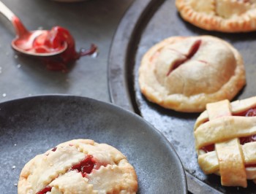
<instances>
[{"instance_id":1,"label":"red filling in the gaps of the wide woven lattice pie","mask_svg":"<svg viewBox=\"0 0 256 194\"><path fill-rule=\"evenodd\" d=\"M244 112L239 112L237 114L234 114L233 116L255 117L256 116L256 107L252 108L252 109L249 109L249 110L246 110ZM240 137L239 139L240 139L240 144L243 145L243 144L246 144L246 143L249 143L249 142L256 141L256 135ZM210 144L208 146L201 147L200 150L203 150L205 152L212 152L212 151L215 150L214 144ZM255 166L256 167L256 164L255 165L251 165L251 166Z\"/></svg>"}]
</instances>

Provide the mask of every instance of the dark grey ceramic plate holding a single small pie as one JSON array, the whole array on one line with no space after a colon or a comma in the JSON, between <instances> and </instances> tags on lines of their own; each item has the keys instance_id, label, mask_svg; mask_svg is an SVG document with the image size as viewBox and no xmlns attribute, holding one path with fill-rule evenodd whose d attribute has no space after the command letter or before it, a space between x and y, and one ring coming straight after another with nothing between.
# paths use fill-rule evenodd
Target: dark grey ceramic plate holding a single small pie
<instances>
[{"instance_id":1,"label":"dark grey ceramic plate holding a single small pie","mask_svg":"<svg viewBox=\"0 0 256 194\"><path fill-rule=\"evenodd\" d=\"M138 174L139 193L187 193L181 161L162 134L118 106L75 96L0 104L0 193L17 193L23 166L71 139L94 139L123 152Z\"/></svg>"}]
</instances>

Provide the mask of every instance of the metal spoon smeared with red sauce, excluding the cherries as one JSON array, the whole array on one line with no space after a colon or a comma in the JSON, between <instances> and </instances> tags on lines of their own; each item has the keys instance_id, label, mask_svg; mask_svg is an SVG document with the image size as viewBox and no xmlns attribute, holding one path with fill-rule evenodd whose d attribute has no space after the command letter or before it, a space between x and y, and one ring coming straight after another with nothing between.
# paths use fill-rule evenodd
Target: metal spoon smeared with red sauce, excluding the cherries
<instances>
[{"instance_id":1,"label":"metal spoon smeared with red sauce, excluding the cherries","mask_svg":"<svg viewBox=\"0 0 256 194\"><path fill-rule=\"evenodd\" d=\"M1 1L0 1L0 12L12 23L12 26L15 28L16 37L12 40L12 48L20 53L26 54L26 55L32 55L32 56L38 56L38 57L47 57L47 56L53 56L53 55L59 55L60 53L63 53L67 49L67 42L64 42L64 45L60 47L59 50L53 50L53 52L49 53L36 53L28 51L30 45L33 45L35 40L39 36L43 36L44 34L47 34L48 31L45 30L37 30L37 31L28 31L25 26L23 26L23 23L21 23L20 19L14 15L14 13L6 7Z\"/></svg>"}]
</instances>

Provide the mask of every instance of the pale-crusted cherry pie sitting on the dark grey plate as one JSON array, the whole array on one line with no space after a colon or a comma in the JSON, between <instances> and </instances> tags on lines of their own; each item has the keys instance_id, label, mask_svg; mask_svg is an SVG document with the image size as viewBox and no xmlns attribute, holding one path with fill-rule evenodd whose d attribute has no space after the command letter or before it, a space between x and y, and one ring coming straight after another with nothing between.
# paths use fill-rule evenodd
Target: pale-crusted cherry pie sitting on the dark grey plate
<instances>
[{"instance_id":1,"label":"pale-crusted cherry pie sitting on the dark grey plate","mask_svg":"<svg viewBox=\"0 0 256 194\"><path fill-rule=\"evenodd\" d=\"M37 155L18 182L23 193L136 193L135 169L108 144L75 139Z\"/></svg>"}]
</instances>

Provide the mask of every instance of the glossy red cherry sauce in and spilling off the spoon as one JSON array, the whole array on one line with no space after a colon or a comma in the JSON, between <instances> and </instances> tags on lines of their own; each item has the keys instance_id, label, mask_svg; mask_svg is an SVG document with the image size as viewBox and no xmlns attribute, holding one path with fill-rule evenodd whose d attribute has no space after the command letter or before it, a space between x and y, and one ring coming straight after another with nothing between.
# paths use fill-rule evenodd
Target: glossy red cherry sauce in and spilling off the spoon
<instances>
[{"instance_id":1,"label":"glossy red cherry sauce in and spilling off the spoon","mask_svg":"<svg viewBox=\"0 0 256 194\"><path fill-rule=\"evenodd\" d=\"M89 50L75 50L75 40L66 28L55 26L50 31L43 31L42 34L37 36L33 41L29 41L34 33L37 31L29 32L23 26L18 18L12 18L12 23L19 32L19 39L15 45L22 50L31 53L55 53L62 50L67 44L67 49L59 55L50 57L42 57L47 69L53 71L67 71L67 65L71 62L78 60L81 56L93 55L97 53L97 46L91 44Z\"/></svg>"}]
</instances>

